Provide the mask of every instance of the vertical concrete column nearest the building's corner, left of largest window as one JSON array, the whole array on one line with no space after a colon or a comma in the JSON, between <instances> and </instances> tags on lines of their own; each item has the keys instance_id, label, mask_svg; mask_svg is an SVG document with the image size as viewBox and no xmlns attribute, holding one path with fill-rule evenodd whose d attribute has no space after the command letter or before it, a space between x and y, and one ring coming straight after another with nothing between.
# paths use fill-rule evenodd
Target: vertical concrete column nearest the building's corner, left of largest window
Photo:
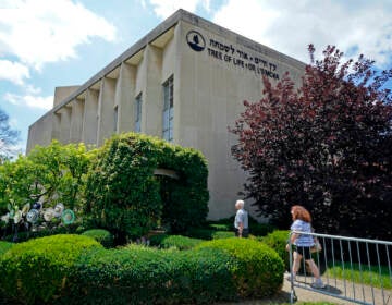
<instances>
[{"instance_id":1,"label":"vertical concrete column nearest the building's corner, left of largest window","mask_svg":"<svg viewBox=\"0 0 392 305\"><path fill-rule=\"evenodd\" d=\"M147 45L146 88L142 106L142 131L162 137L162 50Z\"/></svg>"}]
</instances>

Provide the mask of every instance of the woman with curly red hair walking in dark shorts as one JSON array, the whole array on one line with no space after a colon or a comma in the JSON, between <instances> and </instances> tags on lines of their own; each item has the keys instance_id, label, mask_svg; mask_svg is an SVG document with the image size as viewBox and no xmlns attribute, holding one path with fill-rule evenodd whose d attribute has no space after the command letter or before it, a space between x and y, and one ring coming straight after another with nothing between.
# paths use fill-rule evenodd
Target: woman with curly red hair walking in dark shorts
<instances>
[{"instance_id":1,"label":"woman with curly red hair walking in dark shorts","mask_svg":"<svg viewBox=\"0 0 392 305\"><path fill-rule=\"evenodd\" d=\"M315 260L311 258L310 248L315 245L315 239L313 235L298 233L298 232L311 233L313 231L311 216L309 211L303 206L293 206L291 208L291 215L293 218L293 223L290 227L290 230L292 232L295 232L292 233L290 237L291 239L290 244L294 245L293 270L291 277L293 277L293 279L295 280L295 276L301 266L301 259L304 257L306 264L309 266L313 274L316 278L311 286L316 289L324 288L326 285L323 284L320 278L320 271ZM287 249L289 249L289 245L287 245ZM291 277L290 280L292 279Z\"/></svg>"}]
</instances>

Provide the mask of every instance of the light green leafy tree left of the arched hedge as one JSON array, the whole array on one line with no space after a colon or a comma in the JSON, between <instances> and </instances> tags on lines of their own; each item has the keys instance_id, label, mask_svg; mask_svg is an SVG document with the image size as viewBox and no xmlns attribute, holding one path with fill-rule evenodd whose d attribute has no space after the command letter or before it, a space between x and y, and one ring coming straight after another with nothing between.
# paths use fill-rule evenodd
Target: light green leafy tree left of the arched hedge
<instances>
[{"instance_id":1,"label":"light green leafy tree left of the arched hedge","mask_svg":"<svg viewBox=\"0 0 392 305\"><path fill-rule=\"evenodd\" d=\"M0 166L0 207L9 203L22 207L37 200L54 205L61 202L68 208L78 206L83 175L87 172L89 156L84 145L36 146L28 156Z\"/></svg>"}]
</instances>

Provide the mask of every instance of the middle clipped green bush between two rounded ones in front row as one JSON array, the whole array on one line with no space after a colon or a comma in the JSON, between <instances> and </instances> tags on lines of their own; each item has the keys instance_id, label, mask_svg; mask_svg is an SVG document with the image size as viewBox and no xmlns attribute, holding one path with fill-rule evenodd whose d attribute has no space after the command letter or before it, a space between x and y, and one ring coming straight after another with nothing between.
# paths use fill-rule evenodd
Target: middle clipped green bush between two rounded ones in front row
<instances>
[{"instance_id":1,"label":"middle clipped green bush between two rounded ones in front row","mask_svg":"<svg viewBox=\"0 0 392 305\"><path fill-rule=\"evenodd\" d=\"M72 304L211 304L235 298L219 249L155 249L131 245L99 249L81 258L74 273Z\"/></svg>"}]
</instances>

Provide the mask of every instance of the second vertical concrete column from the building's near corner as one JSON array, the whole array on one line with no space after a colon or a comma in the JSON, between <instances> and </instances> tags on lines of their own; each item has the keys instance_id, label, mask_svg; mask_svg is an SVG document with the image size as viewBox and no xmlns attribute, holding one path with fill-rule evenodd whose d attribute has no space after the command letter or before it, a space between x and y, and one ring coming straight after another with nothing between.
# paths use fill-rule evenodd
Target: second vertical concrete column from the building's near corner
<instances>
[{"instance_id":1,"label":"second vertical concrete column from the building's near corner","mask_svg":"<svg viewBox=\"0 0 392 305\"><path fill-rule=\"evenodd\" d=\"M115 84L114 105L118 106L118 132L130 132L134 130L135 123L135 66L123 62L120 75Z\"/></svg>"}]
</instances>

